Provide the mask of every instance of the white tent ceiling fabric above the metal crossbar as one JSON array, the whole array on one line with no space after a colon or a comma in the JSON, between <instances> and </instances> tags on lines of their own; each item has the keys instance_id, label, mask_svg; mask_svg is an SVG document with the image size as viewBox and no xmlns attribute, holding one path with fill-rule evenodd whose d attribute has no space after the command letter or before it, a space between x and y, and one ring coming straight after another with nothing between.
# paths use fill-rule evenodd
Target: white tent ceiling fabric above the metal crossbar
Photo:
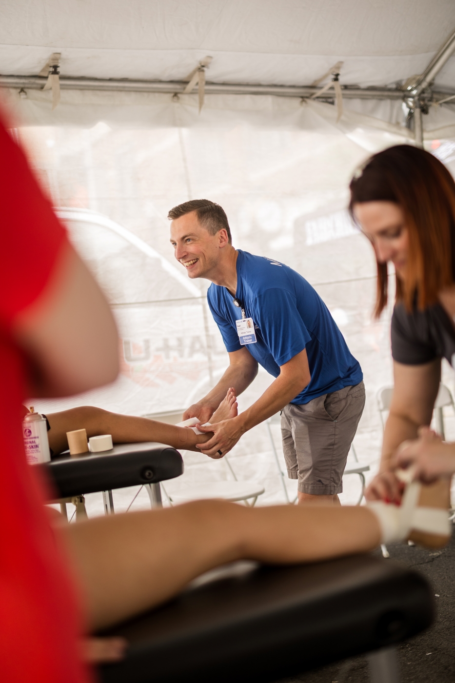
<instances>
[{"instance_id":1,"label":"white tent ceiling fabric above the metal crossbar","mask_svg":"<svg viewBox=\"0 0 455 683\"><path fill-rule=\"evenodd\" d=\"M422 72L455 28L453 0L4 0L0 73L179 81L206 55L215 83L307 85L336 61L344 84ZM455 58L437 77L452 87Z\"/></svg>"}]
</instances>

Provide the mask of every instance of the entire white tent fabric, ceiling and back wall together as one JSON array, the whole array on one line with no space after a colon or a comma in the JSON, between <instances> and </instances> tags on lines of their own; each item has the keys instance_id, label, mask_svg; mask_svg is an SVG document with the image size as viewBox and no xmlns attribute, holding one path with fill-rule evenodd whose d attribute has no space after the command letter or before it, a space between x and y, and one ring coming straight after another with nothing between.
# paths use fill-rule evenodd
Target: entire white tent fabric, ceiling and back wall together
<instances>
[{"instance_id":1,"label":"entire white tent fabric, ceiling and back wall together","mask_svg":"<svg viewBox=\"0 0 455 683\"><path fill-rule=\"evenodd\" d=\"M455 28L452 0L16 0L4 9L5 76L36 76L60 52L62 77L182 81L211 55L211 83L309 84L341 60L342 84L394 87L422 73ZM454 85L451 57L435 87ZM236 247L289 264L327 303L365 375L355 444L372 475L382 436L375 395L392 381L391 307L372 320L374 255L346 204L350 177L369 154L413 143L402 101L345 97L337 121L332 104L265 94L206 93L199 113L181 82L178 96L65 87L53 110L51 91L19 90L3 88L18 139L109 296L122 337L114 385L35 400L38 408L183 409L221 376L228 356L205 303L208 283L189 281L169 245L169 208L206 197L227 211ZM453 173L454 104L430 106L424 140ZM271 380L260 371L240 409ZM444 380L453 387L445 366ZM446 434L455 438L455 421ZM232 463L239 479L264 483L260 502L284 499L264 425L243 436ZM186 454L185 466L187 481L230 476L222 461L198 454ZM357 477L344 485L343 501L354 502Z\"/></svg>"}]
</instances>

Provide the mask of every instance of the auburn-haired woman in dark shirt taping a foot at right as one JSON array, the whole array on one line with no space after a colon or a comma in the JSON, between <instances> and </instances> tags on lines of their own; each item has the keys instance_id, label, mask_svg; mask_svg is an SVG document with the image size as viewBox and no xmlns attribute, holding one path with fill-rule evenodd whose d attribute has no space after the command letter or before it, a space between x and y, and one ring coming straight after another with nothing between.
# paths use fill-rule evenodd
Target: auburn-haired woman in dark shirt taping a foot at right
<instances>
[{"instance_id":1,"label":"auburn-haired woman in dark shirt taping a foot at right","mask_svg":"<svg viewBox=\"0 0 455 683\"><path fill-rule=\"evenodd\" d=\"M455 445L428 428L441 359L455 361L455 182L429 152L398 145L372 156L350 193L350 212L376 253L376 317L387 305L387 264L395 266L394 395L380 472L367 497L398 501L398 464L415 462L415 476L424 480L455 471Z\"/></svg>"}]
</instances>

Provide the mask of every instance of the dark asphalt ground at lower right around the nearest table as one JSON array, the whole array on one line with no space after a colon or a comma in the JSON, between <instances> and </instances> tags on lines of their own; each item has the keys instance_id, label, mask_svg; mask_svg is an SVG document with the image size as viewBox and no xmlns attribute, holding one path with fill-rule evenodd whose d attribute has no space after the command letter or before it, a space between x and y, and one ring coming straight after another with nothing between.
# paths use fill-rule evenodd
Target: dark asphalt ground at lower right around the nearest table
<instances>
[{"instance_id":1,"label":"dark asphalt ground at lower right around the nearest table","mask_svg":"<svg viewBox=\"0 0 455 683\"><path fill-rule=\"evenodd\" d=\"M455 535L443 550L388 546L390 557L422 572L430 581L437 607L435 623L398 646L400 683L455 682ZM381 555L378 550L374 554ZM366 656L309 671L281 683L370 683Z\"/></svg>"}]
</instances>

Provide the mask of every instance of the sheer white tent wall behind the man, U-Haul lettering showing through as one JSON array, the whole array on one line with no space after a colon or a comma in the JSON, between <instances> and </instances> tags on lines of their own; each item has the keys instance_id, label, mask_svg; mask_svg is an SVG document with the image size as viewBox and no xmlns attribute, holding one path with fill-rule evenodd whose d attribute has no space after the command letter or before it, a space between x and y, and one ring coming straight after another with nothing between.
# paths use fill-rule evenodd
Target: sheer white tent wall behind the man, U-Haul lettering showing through
<instances>
[{"instance_id":1,"label":"sheer white tent wall behind the man, U-Haul lettering showing through","mask_svg":"<svg viewBox=\"0 0 455 683\"><path fill-rule=\"evenodd\" d=\"M171 106L178 108L174 120L184 121L188 107ZM236 247L296 268L327 303L365 374L367 406L355 443L374 471L381 443L375 394L391 382L390 309L372 320L374 256L347 217L347 187L370 152L402 138L359 126L345 134L330 121L333 109L299 105L263 126L243 113L208 108L197 126L179 128L100 122L18 129L74 245L105 288L122 337L113 386L35 400L40 410L93 404L143 415L185 408L221 376L228 357L204 301L208 283L189 281L173 259L167 221L171 206L208 197L228 212ZM432 144L437 152L451 143ZM271 379L260 372L240 396L240 409ZM279 428L273 429L279 447ZM185 462L186 481L228 476L205 456L187 454ZM264 425L243 436L232 462L239 478L264 482L263 503L283 499ZM355 501L357 478L345 486L344 501Z\"/></svg>"}]
</instances>

